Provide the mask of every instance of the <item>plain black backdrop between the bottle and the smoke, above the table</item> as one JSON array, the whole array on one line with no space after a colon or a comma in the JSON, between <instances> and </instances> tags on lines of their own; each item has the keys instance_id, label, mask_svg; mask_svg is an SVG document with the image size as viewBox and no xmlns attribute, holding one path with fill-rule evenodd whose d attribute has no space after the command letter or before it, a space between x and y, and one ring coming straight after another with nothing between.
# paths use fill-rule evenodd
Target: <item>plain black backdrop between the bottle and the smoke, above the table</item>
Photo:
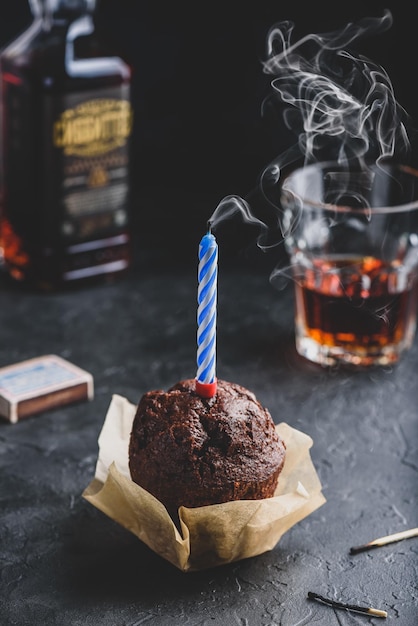
<instances>
[{"instance_id":1,"label":"plain black backdrop between the bottle and the smoke, above the table","mask_svg":"<svg viewBox=\"0 0 418 626\"><path fill-rule=\"evenodd\" d=\"M399 3L100 0L98 6L109 53L133 70L132 210L142 246L162 242L172 249L176 237L175 247L180 242L188 255L224 196L250 197L256 206L261 171L294 142L280 117L261 114L270 93L261 61L278 21L295 23L296 40L380 18L389 8L390 30L360 39L355 52L386 69L411 125L418 125L416 20ZM27 0L1 5L0 45L29 23L28 7ZM245 247L246 237L247 231L242 240L229 237L228 250Z\"/></svg>"}]
</instances>

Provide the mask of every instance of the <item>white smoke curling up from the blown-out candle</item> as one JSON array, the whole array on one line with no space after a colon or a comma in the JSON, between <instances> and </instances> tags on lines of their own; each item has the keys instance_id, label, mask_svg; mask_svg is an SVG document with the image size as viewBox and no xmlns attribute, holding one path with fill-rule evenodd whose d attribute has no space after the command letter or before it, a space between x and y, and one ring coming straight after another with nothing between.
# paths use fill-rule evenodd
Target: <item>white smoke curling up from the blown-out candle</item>
<instances>
[{"instance_id":1,"label":"white smoke curling up from the blown-out candle","mask_svg":"<svg viewBox=\"0 0 418 626\"><path fill-rule=\"evenodd\" d=\"M262 103L261 114L268 107L279 107L295 141L259 173L270 218L257 216L256 207L247 200L227 196L209 220L212 228L238 212L245 222L260 228L260 248L278 245L283 240L278 197L285 169L321 160L362 165L396 158L407 163L409 116L397 102L386 71L353 51L360 39L387 31L392 21L387 10L382 17L363 18L296 41L292 22L271 27L262 63L262 71L272 77L271 93Z\"/></svg>"}]
</instances>

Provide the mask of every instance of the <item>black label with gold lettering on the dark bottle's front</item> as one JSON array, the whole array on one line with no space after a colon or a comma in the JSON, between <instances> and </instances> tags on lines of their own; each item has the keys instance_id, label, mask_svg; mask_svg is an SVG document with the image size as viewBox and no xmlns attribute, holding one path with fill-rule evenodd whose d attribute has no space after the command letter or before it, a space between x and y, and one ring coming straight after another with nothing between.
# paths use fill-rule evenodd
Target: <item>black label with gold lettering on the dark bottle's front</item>
<instances>
[{"instance_id":1,"label":"black label with gold lettering on the dark bottle's front","mask_svg":"<svg viewBox=\"0 0 418 626\"><path fill-rule=\"evenodd\" d=\"M128 89L128 88L127 88ZM61 205L60 236L74 245L114 236L128 223L128 140L132 108L120 87L50 97L47 137L56 170L52 212ZM52 120L52 124L51 124ZM48 172L45 172L45 176Z\"/></svg>"}]
</instances>

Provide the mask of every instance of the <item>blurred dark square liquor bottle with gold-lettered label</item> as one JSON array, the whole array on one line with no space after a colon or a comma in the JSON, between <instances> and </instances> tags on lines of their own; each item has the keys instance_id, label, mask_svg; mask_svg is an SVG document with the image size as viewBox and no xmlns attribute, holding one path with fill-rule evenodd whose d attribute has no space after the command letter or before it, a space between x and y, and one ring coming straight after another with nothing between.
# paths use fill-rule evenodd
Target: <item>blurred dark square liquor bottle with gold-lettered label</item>
<instances>
[{"instance_id":1,"label":"blurred dark square liquor bottle with gold-lettered label","mask_svg":"<svg viewBox=\"0 0 418 626\"><path fill-rule=\"evenodd\" d=\"M34 20L0 55L0 252L40 289L131 263L130 69L104 56L95 0L30 0Z\"/></svg>"}]
</instances>

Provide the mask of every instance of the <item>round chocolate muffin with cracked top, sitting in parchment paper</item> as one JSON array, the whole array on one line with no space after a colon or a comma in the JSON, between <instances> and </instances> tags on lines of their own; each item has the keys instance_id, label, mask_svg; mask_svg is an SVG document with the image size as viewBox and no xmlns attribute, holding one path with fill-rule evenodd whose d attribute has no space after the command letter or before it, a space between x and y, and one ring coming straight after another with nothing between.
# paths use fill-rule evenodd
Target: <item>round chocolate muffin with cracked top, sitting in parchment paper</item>
<instances>
[{"instance_id":1,"label":"round chocolate muffin with cracked top, sitting in parchment paper","mask_svg":"<svg viewBox=\"0 0 418 626\"><path fill-rule=\"evenodd\" d=\"M129 443L134 482L169 513L274 495L285 444L269 411L244 387L218 380L213 398L201 398L195 381L140 400Z\"/></svg>"}]
</instances>

